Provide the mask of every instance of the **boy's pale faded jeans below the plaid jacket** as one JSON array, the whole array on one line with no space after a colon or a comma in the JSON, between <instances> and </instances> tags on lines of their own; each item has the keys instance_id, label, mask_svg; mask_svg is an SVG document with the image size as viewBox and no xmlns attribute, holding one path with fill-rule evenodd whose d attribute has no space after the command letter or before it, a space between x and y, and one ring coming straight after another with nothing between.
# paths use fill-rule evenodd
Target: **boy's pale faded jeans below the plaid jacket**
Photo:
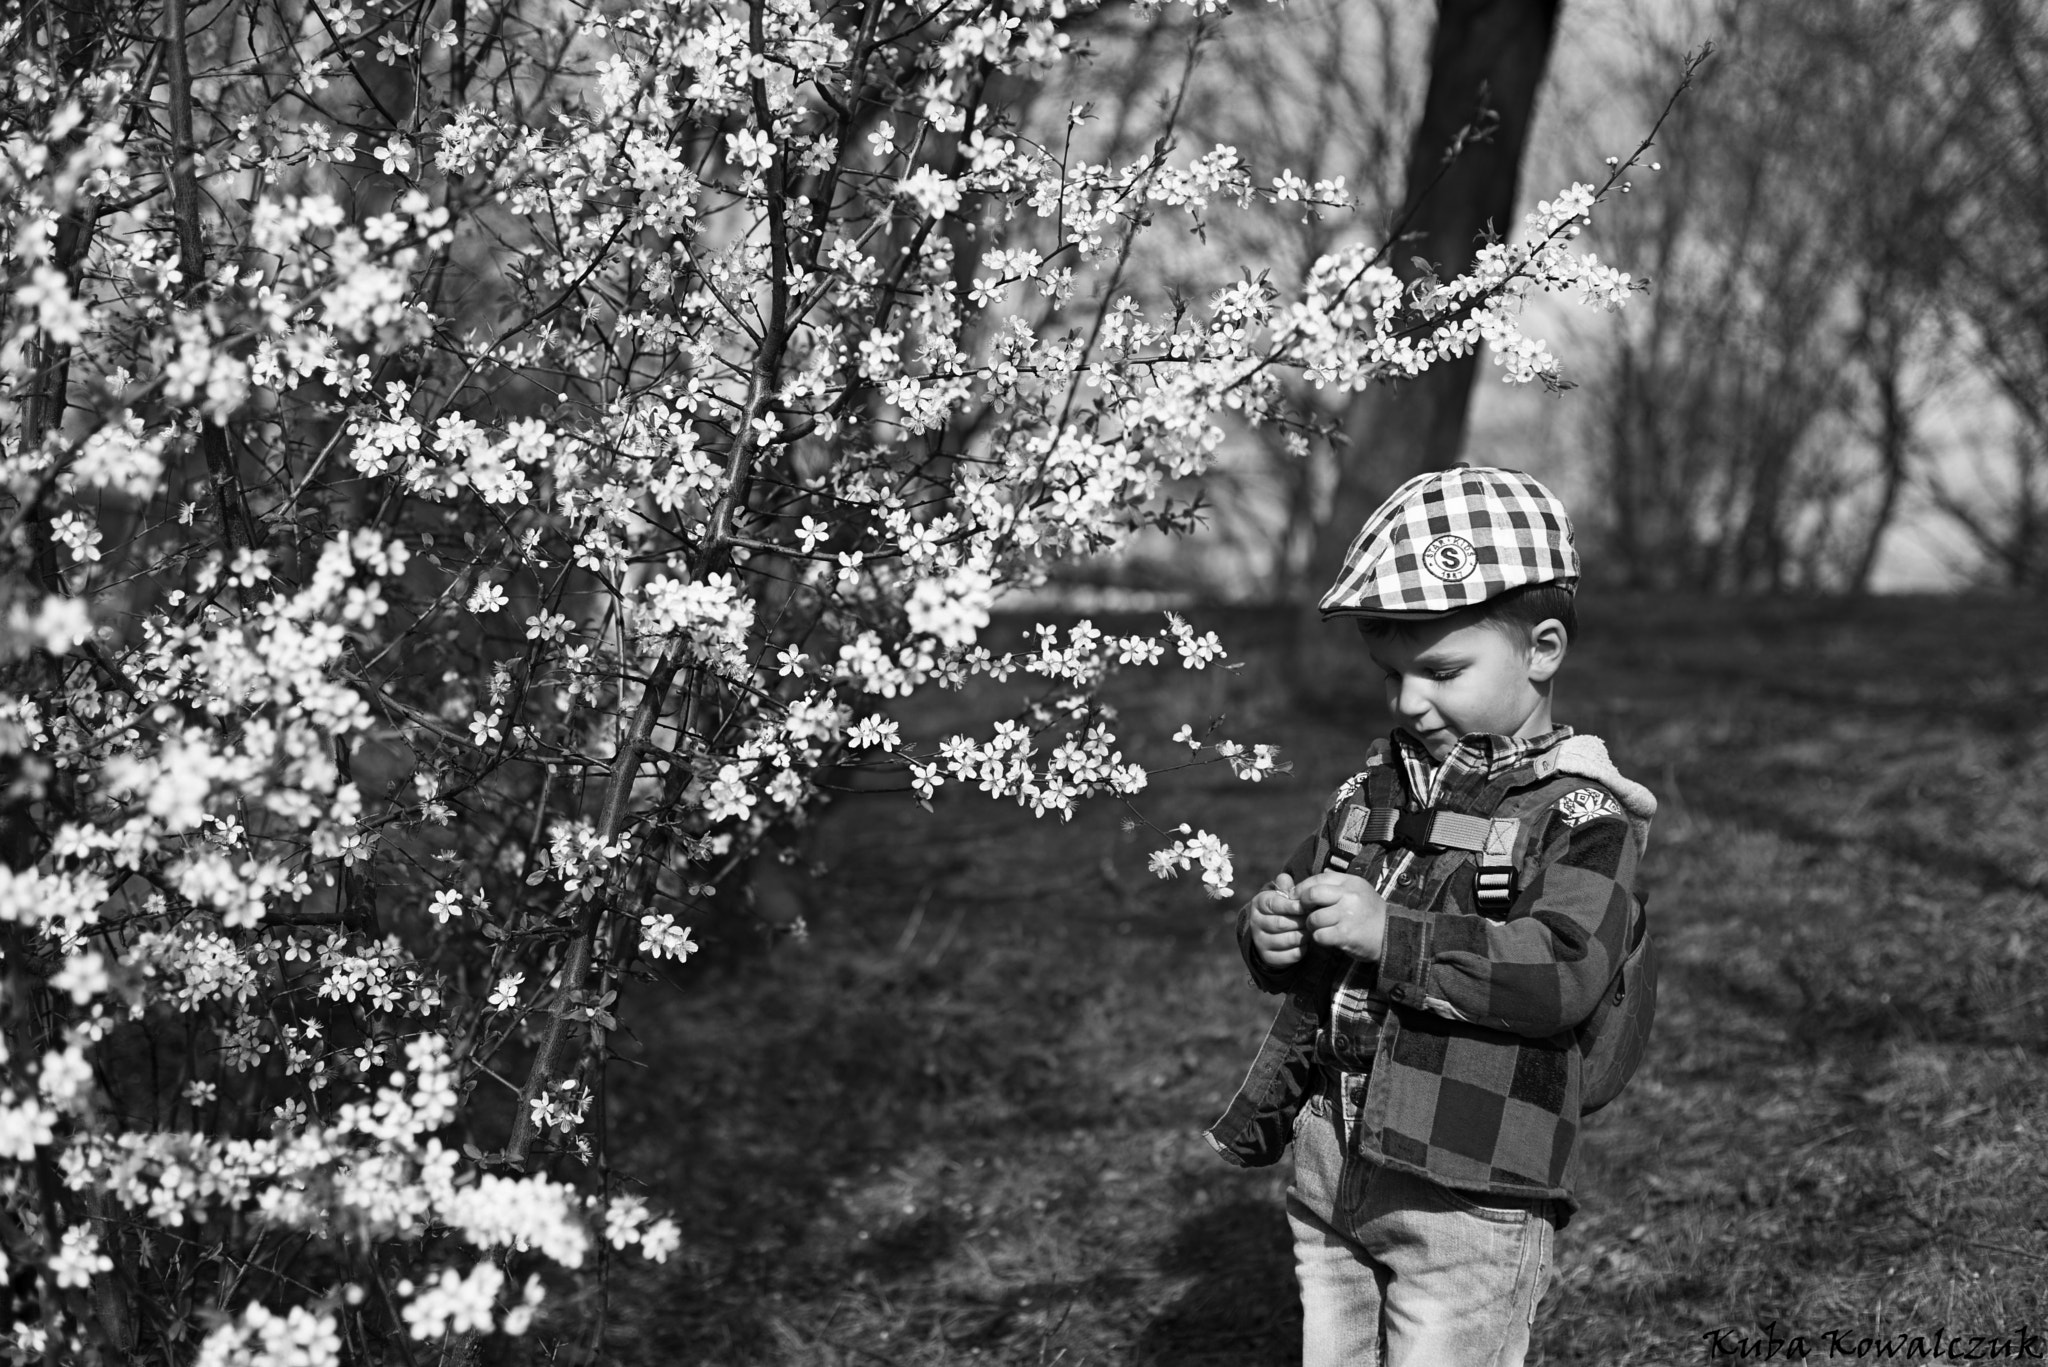
<instances>
[{"instance_id":1,"label":"boy's pale faded jeans below the plaid jacket","mask_svg":"<svg viewBox=\"0 0 2048 1367\"><path fill-rule=\"evenodd\" d=\"M1319 1090L1294 1121L1303 1367L1520 1367L1550 1281L1546 1203L1470 1195L1354 1158L1346 1111L1364 1076Z\"/></svg>"}]
</instances>

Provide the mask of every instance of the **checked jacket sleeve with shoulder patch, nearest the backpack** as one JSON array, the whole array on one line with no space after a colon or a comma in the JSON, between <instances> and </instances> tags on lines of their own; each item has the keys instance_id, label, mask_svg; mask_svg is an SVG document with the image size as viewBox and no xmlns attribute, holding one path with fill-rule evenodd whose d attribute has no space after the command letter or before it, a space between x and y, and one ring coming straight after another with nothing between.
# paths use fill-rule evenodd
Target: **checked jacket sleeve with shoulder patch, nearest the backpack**
<instances>
[{"instance_id":1,"label":"checked jacket sleeve with shoulder patch, nearest the backpack","mask_svg":"<svg viewBox=\"0 0 2048 1367\"><path fill-rule=\"evenodd\" d=\"M1618 810L1573 824L1552 807L1538 820L1505 920L1452 902L1389 904L1378 982L1397 1004L1534 1039L1593 1014L1622 963L1638 844Z\"/></svg>"}]
</instances>

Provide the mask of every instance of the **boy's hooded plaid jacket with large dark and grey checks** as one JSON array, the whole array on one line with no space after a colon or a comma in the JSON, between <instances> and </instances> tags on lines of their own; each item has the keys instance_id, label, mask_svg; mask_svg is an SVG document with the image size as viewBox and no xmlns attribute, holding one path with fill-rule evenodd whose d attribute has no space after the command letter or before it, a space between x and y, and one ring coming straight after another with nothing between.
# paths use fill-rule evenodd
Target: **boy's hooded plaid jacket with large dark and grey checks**
<instances>
[{"instance_id":1,"label":"boy's hooded plaid jacket with large dark and grey checks","mask_svg":"<svg viewBox=\"0 0 2048 1367\"><path fill-rule=\"evenodd\" d=\"M1376 967L1309 945L1298 963L1268 971L1241 912L1239 947L1253 982L1288 1000L1206 1137L1241 1166L1278 1160L1294 1113L1321 1080L1323 1031L1325 1058L1333 1047L1339 1062L1370 1068L1354 1137L1360 1156L1444 1187L1554 1199L1571 1211L1577 1027L1620 965L1655 799L1614 771L1595 738L1573 738L1571 728L1524 742L1466 736L1427 793L1417 791L1423 767L1399 762L1403 744L1415 746L1397 732L1393 744L1374 746L1364 773L1337 789L1323 830L1294 851L1288 873L1300 879L1323 865L1331 820L1364 785L1374 807L1421 807L1432 797L1438 810L1516 818L1518 894L1505 910L1483 914L1470 853L1366 844L1352 873L1386 898ZM1333 1021L1331 1004L1346 996L1346 978L1356 988L1360 974L1389 1008L1376 1039L1346 1041L1364 1014Z\"/></svg>"}]
</instances>

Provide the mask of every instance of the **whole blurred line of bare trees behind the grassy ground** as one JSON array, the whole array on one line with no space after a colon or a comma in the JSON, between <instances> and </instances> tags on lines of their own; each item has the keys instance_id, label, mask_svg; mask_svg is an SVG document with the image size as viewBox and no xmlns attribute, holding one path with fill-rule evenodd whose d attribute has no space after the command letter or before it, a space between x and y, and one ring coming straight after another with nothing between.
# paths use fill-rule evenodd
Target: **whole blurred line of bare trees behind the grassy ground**
<instances>
[{"instance_id":1,"label":"whole blurred line of bare trees behind the grassy ground","mask_svg":"<svg viewBox=\"0 0 2048 1367\"><path fill-rule=\"evenodd\" d=\"M1147 123L1128 111L1159 100L1192 25L1096 35L1106 137ZM1628 588L1866 592L1907 525L1962 547L1958 580L2048 588L2048 6L1307 0L1202 37L1180 137L1255 174L1341 174L1356 205L1135 264L1163 287L1217 260L1284 285L1389 230L1403 275L1448 277L1630 150L1712 43L1661 170L1589 230L1653 289L1573 338L1581 389L1513 463L1573 488L1597 572ZM1245 430L1208 480L1206 560L1153 576L1298 596L1391 486L1460 459L1489 369L1292 385L1300 422Z\"/></svg>"}]
</instances>

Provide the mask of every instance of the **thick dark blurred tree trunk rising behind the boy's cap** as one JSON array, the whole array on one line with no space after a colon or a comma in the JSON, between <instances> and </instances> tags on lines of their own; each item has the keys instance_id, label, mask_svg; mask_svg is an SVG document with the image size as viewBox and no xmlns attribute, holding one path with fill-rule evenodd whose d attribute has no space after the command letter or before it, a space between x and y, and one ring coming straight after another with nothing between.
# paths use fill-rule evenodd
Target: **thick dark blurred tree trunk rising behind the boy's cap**
<instances>
[{"instance_id":1,"label":"thick dark blurred tree trunk rising behind the boy's cap","mask_svg":"<svg viewBox=\"0 0 2048 1367\"><path fill-rule=\"evenodd\" d=\"M1430 94L1409 143L1401 215L1409 238L1393 250L1403 277L1417 273L1411 264L1417 256L1436 266L1438 279L1462 275L1489 230L1511 234L1522 148L1561 2L1438 0ZM1460 133L1475 125L1489 129L1487 135L1466 139L1450 158ZM1477 367L1479 357L1438 365L1419 379L1376 385L1350 404L1343 420L1350 447L1311 557L1311 592L1335 576L1343 547L1395 484L1458 461Z\"/></svg>"}]
</instances>

